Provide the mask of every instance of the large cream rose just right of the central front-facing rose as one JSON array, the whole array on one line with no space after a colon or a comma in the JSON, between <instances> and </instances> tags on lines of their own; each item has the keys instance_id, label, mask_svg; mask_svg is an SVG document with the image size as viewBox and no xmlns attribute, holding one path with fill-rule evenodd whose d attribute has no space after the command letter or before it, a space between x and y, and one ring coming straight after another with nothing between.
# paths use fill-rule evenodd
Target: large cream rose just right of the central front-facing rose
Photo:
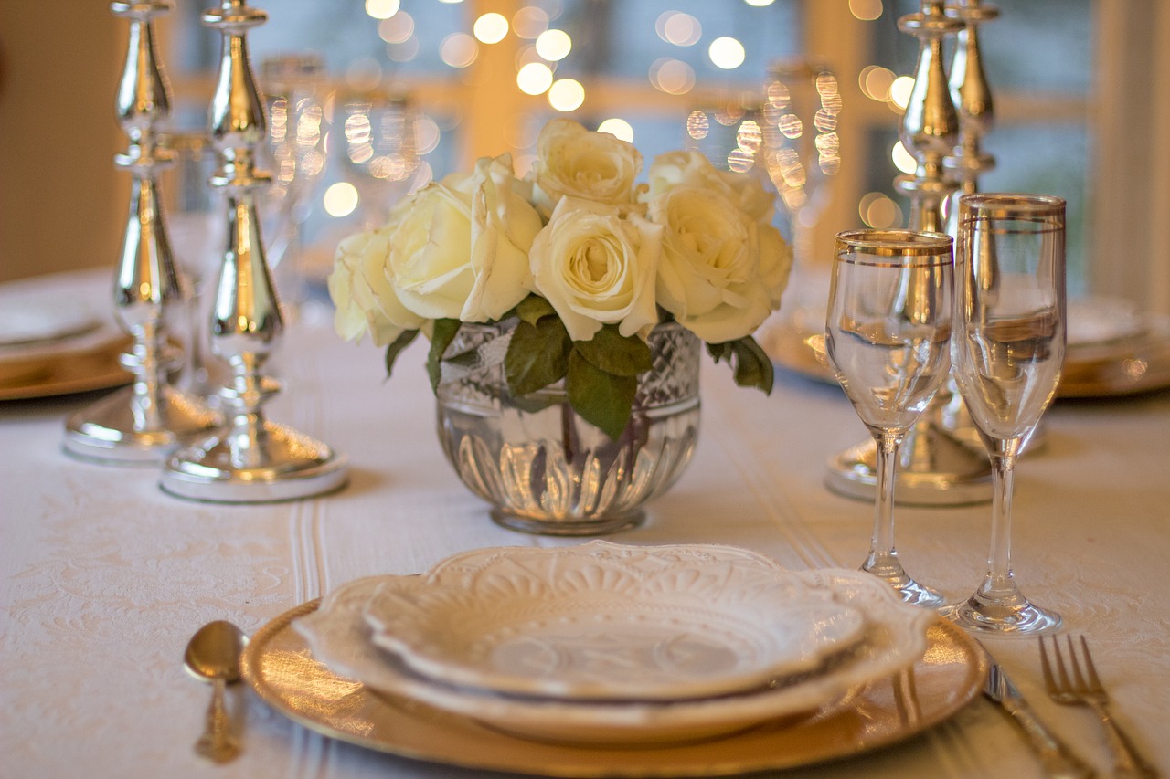
<instances>
[{"instance_id":1,"label":"large cream rose just right of the central front-facing rose","mask_svg":"<svg viewBox=\"0 0 1170 779\"><path fill-rule=\"evenodd\" d=\"M762 276L764 226L720 192L686 185L654 200L649 215L666 228L659 305L708 343L751 335L773 308Z\"/></svg>"}]
</instances>

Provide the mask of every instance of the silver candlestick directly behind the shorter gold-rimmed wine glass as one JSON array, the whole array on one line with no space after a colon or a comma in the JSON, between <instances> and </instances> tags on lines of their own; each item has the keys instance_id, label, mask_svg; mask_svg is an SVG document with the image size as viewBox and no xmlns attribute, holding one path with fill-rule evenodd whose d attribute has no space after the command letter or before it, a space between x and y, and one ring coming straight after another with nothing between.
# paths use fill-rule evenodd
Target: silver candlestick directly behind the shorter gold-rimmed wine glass
<instances>
[{"instance_id":1,"label":"silver candlestick directly behind the shorter gold-rimmed wine glass","mask_svg":"<svg viewBox=\"0 0 1170 779\"><path fill-rule=\"evenodd\" d=\"M909 228L943 233L943 204L958 188L948 174L945 159L959 138L943 42L966 27L963 20L947 15L942 0L922 0L922 11L900 19L899 29L918 39L914 89L901 127L902 145L917 166L895 184L910 199ZM968 35L958 44L969 47L976 41ZM965 54L970 57L971 53L968 49ZM977 50L973 61L979 61ZM952 380L938 391L907 435L900 456L896 489L901 502L958 505L991 498L991 468ZM826 484L841 495L872 501L878 484L873 439L830 460Z\"/></svg>"}]
</instances>

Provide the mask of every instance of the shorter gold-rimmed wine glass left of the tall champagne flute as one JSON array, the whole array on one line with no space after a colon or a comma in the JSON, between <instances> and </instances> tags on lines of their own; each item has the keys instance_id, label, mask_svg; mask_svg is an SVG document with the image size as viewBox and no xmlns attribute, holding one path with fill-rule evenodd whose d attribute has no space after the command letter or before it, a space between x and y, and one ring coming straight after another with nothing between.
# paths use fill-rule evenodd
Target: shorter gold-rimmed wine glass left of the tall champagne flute
<instances>
[{"instance_id":1,"label":"shorter gold-rimmed wine glass left of the tall champagne flute","mask_svg":"<svg viewBox=\"0 0 1170 779\"><path fill-rule=\"evenodd\" d=\"M838 233L825 346L837 380L878 443L878 501L861 566L902 600L943 597L915 581L894 549L897 449L950 368L952 241L942 233Z\"/></svg>"}]
</instances>

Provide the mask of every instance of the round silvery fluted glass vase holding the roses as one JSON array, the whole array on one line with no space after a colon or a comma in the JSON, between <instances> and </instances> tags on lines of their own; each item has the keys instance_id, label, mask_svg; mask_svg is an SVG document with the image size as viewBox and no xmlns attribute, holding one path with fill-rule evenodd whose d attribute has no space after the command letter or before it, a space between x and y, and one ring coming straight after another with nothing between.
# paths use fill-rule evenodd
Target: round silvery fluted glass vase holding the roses
<instances>
[{"instance_id":1,"label":"round silvery fluted glass vase holding the roses","mask_svg":"<svg viewBox=\"0 0 1170 779\"><path fill-rule=\"evenodd\" d=\"M515 324L463 324L443 353L439 439L459 477L512 530L596 536L641 524L641 505L694 454L698 339L675 323L652 331L654 366L613 440L577 415L560 381L511 395L503 361Z\"/></svg>"}]
</instances>

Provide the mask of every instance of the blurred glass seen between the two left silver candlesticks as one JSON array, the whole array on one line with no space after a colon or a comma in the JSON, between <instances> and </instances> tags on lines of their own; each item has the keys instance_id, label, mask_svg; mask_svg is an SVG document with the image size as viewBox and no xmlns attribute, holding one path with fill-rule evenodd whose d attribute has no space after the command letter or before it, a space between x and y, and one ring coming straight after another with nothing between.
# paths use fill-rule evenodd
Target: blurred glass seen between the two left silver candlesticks
<instances>
[{"instance_id":1,"label":"blurred glass seen between the two left silver candlesticks","mask_svg":"<svg viewBox=\"0 0 1170 779\"><path fill-rule=\"evenodd\" d=\"M178 271L187 292L183 322L171 332L180 336L187 353L178 387L181 392L215 401L218 382L211 375L207 323L211 308L205 296L219 273L219 251L225 242L222 194L207 184L218 156L206 132L173 132L160 143L174 152L174 165L163 173L172 204L166 212L167 230Z\"/></svg>"}]
</instances>

